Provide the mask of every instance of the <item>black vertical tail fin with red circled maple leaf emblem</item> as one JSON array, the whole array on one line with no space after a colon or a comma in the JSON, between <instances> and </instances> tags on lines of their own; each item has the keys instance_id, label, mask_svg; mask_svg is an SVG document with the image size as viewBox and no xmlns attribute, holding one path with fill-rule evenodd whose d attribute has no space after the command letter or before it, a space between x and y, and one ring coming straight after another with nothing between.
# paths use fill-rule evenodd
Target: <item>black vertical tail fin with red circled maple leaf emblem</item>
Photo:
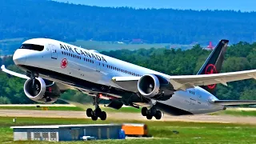
<instances>
[{"instance_id":1,"label":"black vertical tail fin with red circled maple leaf emblem","mask_svg":"<svg viewBox=\"0 0 256 144\"><path fill-rule=\"evenodd\" d=\"M228 42L229 40L226 39L222 39L220 42L218 42L218 45L206 59L206 62L202 65L201 69L198 71L198 74L217 74L221 71ZM209 91L211 94L214 94L216 84L201 87Z\"/></svg>"}]
</instances>

